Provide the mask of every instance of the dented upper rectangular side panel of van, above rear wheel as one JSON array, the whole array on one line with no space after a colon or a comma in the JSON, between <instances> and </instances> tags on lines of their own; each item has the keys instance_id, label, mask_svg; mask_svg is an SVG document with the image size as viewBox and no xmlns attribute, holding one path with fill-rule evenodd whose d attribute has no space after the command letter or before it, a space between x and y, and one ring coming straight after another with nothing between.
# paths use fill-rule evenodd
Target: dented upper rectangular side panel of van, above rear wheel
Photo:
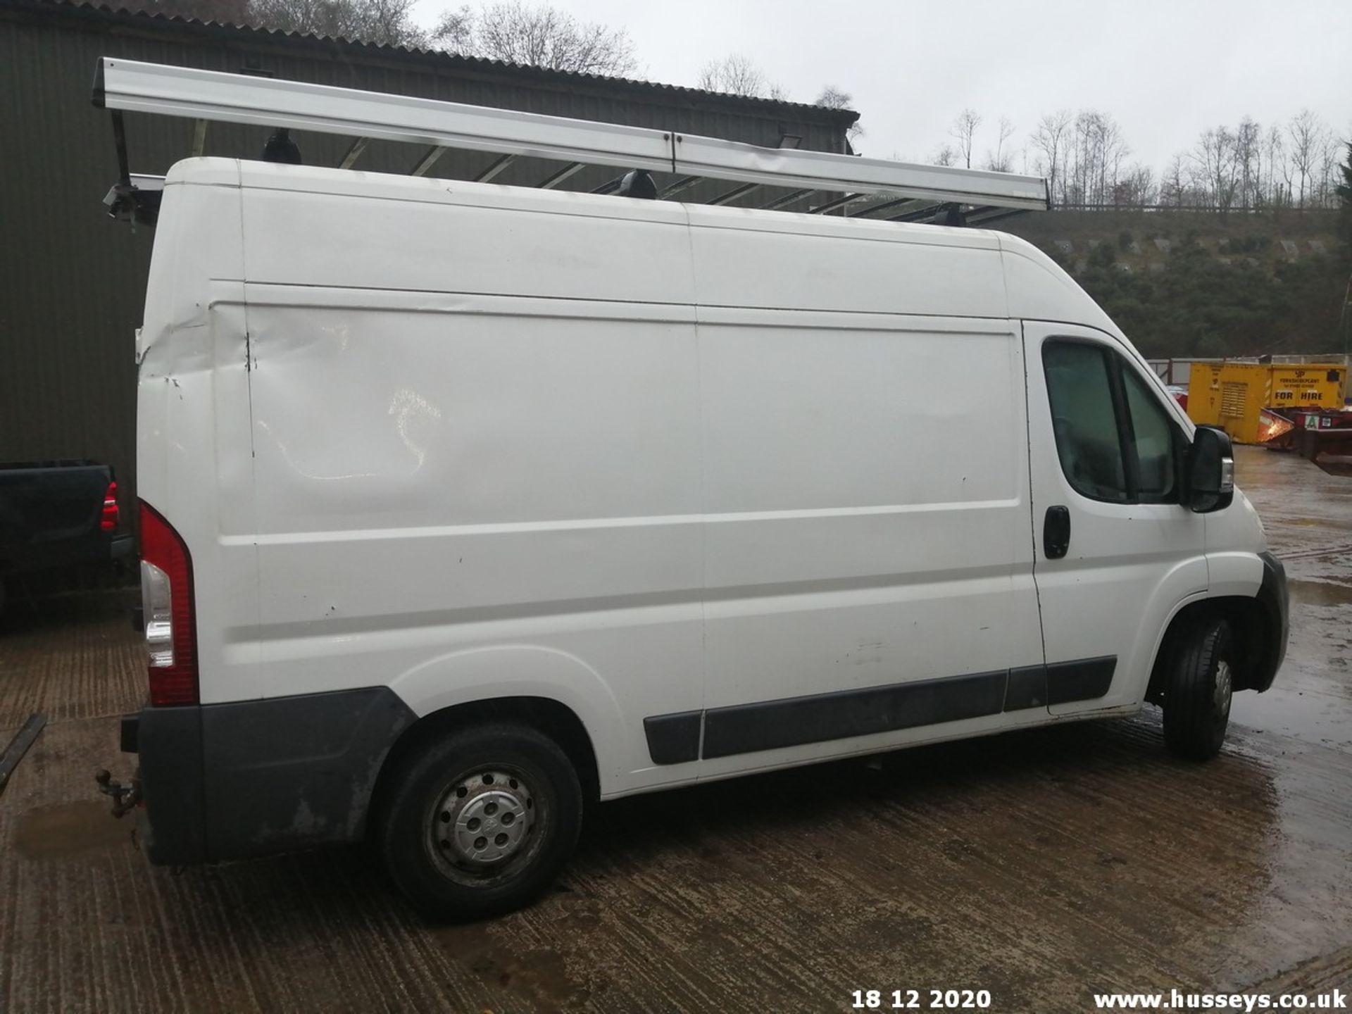
<instances>
[{"instance_id":1,"label":"dented upper rectangular side panel of van, above rear wheel","mask_svg":"<svg viewBox=\"0 0 1352 1014\"><path fill-rule=\"evenodd\" d=\"M699 511L694 326L250 307L260 525Z\"/></svg>"}]
</instances>

